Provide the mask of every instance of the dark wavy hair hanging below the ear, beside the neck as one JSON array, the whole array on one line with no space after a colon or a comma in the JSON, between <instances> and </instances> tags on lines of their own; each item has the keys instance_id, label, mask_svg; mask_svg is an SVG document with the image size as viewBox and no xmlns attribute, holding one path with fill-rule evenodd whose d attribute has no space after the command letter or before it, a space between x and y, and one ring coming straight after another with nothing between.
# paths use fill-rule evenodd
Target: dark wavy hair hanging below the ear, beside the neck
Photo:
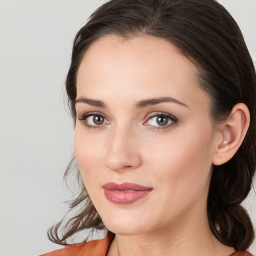
<instances>
[{"instance_id":1,"label":"dark wavy hair hanging below the ear, beside the neck","mask_svg":"<svg viewBox=\"0 0 256 256\"><path fill-rule=\"evenodd\" d=\"M228 162L214 166L207 201L212 233L235 250L246 250L254 238L250 217L240 205L252 182L252 173L245 164L248 156L242 155L243 151L239 148Z\"/></svg>"}]
</instances>

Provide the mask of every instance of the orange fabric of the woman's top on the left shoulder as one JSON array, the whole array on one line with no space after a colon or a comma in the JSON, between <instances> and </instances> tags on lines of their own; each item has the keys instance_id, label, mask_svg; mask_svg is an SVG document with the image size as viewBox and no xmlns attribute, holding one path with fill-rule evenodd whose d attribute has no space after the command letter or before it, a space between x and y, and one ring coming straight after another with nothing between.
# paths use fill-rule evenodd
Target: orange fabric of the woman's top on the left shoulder
<instances>
[{"instance_id":1,"label":"orange fabric of the woman's top on the left shoulder","mask_svg":"<svg viewBox=\"0 0 256 256\"><path fill-rule=\"evenodd\" d=\"M53 250L40 256L105 256L111 240L110 236L106 236L103 239L67 245L62 249Z\"/></svg>"}]
</instances>

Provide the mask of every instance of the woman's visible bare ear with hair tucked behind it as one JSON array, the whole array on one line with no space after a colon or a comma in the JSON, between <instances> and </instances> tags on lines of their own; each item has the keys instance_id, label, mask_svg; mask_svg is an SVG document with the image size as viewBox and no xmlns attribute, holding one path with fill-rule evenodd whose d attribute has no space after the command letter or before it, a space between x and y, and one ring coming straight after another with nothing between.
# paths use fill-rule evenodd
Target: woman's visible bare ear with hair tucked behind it
<instances>
[{"instance_id":1,"label":"woman's visible bare ear with hair tucked behind it","mask_svg":"<svg viewBox=\"0 0 256 256\"><path fill-rule=\"evenodd\" d=\"M234 105L229 117L220 124L216 136L216 149L212 158L214 165L227 162L236 153L247 132L249 121L248 107L243 103Z\"/></svg>"}]
</instances>

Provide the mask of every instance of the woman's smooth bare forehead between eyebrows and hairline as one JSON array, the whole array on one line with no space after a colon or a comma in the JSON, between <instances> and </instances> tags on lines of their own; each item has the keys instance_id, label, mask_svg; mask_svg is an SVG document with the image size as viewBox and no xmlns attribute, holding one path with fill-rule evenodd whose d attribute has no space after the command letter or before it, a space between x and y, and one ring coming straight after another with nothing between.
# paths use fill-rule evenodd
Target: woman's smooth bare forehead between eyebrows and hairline
<instances>
[{"instance_id":1,"label":"woman's smooth bare forehead between eyebrows and hairline","mask_svg":"<svg viewBox=\"0 0 256 256\"><path fill-rule=\"evenodd\" d=\"M164 39L108 35L86 51L77 73L77 97L102 100L111 94L114 100L135 101L171 96L182 102L196 98L197 103L208 104L196 72L196 66Z\"/></svg>"}]
</instances>

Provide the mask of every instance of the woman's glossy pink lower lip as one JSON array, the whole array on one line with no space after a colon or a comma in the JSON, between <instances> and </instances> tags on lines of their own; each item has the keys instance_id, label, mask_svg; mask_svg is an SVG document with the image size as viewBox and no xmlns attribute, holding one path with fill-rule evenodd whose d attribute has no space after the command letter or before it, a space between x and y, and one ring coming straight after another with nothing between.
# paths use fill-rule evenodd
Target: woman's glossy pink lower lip
<instances>
[{"instance_id":1,"label":"woman's glossy pink lower lip","mask_svg":"<svg viewBox=\"0 0 256 256\"><path fill-rule=\"evenodd\" d=\"M148 195L152 189L147 190L114 190L104 188L104 194L108 201L117 204L128 204L135 202L146 195Z\"/></svg>"}]
</instances>

